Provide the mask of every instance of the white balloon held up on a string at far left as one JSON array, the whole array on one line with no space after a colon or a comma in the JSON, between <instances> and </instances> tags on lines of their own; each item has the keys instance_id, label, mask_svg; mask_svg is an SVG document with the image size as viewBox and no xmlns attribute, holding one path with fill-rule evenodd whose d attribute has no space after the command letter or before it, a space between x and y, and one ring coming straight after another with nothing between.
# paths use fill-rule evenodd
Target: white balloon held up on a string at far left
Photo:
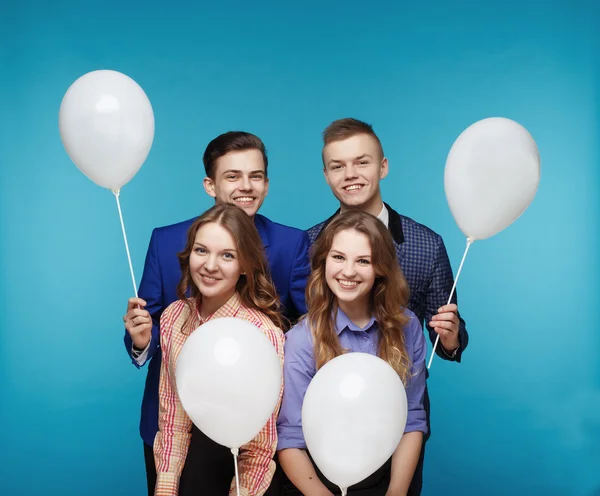
<instances>
[{"instance_id":1,"label":"white balloon held up on a string at far left","mask_svg":"<svg viewBox=\"0 0 600 496\"><path fill-rule=\"evenodd\" d=\"M120 189L135 176L154 140L148 97L116 71L93 71L77 79L63 97L58 126L75 165L109 189Z\"/></svg>"}]
</instances>

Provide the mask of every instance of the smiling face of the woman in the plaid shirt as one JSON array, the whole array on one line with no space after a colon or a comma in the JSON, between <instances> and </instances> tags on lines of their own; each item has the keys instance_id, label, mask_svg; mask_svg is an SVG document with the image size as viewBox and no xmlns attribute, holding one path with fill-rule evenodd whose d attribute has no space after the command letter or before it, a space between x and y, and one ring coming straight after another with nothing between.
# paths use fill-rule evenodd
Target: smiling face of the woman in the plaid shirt
<instances>
[{"instance_id":1,"label":"smiling face of the woman in the plaid shirt","mask_svg":"<svg viewBox=\"0 0 600 496\"><path fill-rule=\"evenodd\" d=\"M242 269L237 244L227 229L216 222L201 226L189 263L203 306L219 308L233 296Z\"/></svg>"}]
</instances>

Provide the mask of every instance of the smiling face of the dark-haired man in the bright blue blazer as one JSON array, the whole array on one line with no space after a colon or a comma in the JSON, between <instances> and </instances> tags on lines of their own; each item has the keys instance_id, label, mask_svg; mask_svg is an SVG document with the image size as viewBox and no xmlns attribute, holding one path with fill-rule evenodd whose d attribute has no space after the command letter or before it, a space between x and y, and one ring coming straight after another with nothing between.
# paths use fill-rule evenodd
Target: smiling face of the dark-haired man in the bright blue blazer
<instances>
[{"instance_id":1,"label":"smiling face of the dark-haired man in the bright blue blazer","mask_svg":"<svg viewBox=\"0 0 600 496\"><path fill-rule=\"evenodd\" d=\"M204 179L204 189L217 203L233 203L253 217L269 191L262 153L240 150L219 157L214 177Z\"/></svg>"}]
</instances>

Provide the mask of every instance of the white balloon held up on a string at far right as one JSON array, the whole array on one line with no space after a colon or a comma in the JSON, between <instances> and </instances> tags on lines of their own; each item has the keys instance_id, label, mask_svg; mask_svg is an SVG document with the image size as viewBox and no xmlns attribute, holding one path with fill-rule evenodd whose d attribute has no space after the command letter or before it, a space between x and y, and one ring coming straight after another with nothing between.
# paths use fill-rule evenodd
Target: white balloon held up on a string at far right
<instances>
[{"instance_id":1,"label":"white balloon held up on a string at far right","mask_svg":"<svg viewBox=\"0 0 600 496\"><path fill-rule=\"evenodd\" d=\"M465 129L446 160L446 199L471 241L489 238L520 217L539 181L535 141L523 126L503 117L483 119Z\"/></svg>"}]
</instances>

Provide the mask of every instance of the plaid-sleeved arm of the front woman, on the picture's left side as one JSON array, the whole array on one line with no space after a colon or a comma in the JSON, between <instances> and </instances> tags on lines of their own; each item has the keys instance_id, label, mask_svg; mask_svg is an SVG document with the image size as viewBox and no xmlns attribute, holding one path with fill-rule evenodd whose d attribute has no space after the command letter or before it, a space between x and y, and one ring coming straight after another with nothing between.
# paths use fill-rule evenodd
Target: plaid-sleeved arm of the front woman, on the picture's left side
<instances>
[{"instance_id":1,"label":"plaid-sleeved arm of the front woman, on the picture's left side","mask_svg":"<svg viewBox=\"0 0 600 496\"><path fill-rule=\"evenodd\" d=\"M179 477L185 464L192 437L192 421L185 413L175 389L175 370L172 369L171 337L179 312L169 307L161 317L161 346L164 351L158 390L158 433L154 440L156 463L155 496L178 493ZM173 315L175 314L175 315Z\"/></svg>"}]
</instances>

